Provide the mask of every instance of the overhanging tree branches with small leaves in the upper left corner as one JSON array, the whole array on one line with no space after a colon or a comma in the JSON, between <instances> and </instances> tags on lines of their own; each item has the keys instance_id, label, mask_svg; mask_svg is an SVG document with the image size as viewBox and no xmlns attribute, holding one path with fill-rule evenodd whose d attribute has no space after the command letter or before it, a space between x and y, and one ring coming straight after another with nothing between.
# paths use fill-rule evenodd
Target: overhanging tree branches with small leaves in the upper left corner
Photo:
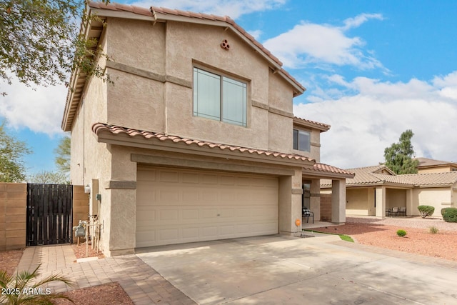
<instances>
[{"instance_id":1,"label":"overhanging tree branches with small leaves in the upper left corner","mask_svg":"<svg viewBox=\"0 0 457 305\"><path fill-rule=\"evenodd\" d=\"M27 86L64 84L77 68L109 81L95 63L94 39L79 31L80 22L88 20L89 1L0 0L0 79L11 84L16 76Z\"/></svg>"}]
</instances>

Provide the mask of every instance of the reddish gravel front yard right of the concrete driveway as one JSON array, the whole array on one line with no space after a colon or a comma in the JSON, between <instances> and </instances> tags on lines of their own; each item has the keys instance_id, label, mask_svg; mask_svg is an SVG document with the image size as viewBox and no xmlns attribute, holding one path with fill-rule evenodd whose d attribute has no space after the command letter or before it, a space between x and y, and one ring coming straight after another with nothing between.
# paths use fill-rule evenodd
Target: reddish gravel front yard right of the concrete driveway
<instances>
[{"instance_id":1,"label":"reddish gravel front yard right of the concrete driveway","mask_svg":"<svg viewBox=\"0 0 457 305\"><path fill-rule=\"evenodd\" d=\"M399 229L405 230L407 232L406 236L398 236L396 231ZM313 231L346 234L359 244L457 261L455 231L440 230L437 234L431 234L428 228L418 229L404 226L353 223L346 223L342 226L314 228Z\"/></svg>"}]
</instances>

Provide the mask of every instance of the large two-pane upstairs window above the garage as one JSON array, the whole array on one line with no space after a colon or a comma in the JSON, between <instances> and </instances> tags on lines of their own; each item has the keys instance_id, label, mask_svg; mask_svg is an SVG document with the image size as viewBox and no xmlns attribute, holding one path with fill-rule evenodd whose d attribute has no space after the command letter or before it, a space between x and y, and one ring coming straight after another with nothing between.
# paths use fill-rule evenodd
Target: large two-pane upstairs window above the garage
<instances>
[{"instance_id":1,"label":"large two-pane upstairs window above the garage","mask_svg":"<svg viewBox=\"0 0 457 305\"><path fill-rule=\"evenodd\" d=\"M206 104L202 107L199 107L199 99L202 99L199 95L199 76L208 76L207 80L213 81L216 84L217 79L219 79L219 91L215 89L209 95L214 98L211 101L211 104ZM212 78L212 79L211 79ZM227 94L229 90L224 91L227 86L238 86L240 91L236 91L236 94L239 94L238 99L236 100L236 106L238 106L238 114L233 114L233 109L228 109L229 102L227 101ZM240 98L241 96L241 98ZM207 97L208 98L208 97ZM225 102L225 104L224 104ZM225 123L238 125L238 126L247 126L247 102L248 102L248 84L246 81L240 79L235 79L231 76L226 76L224 74L214 73L213 71L208 71L201 69L198 66L194 66L194 116L204 117L206 119L213 119L216 121L223 121ZM202 102L201 104L203 104ZM200 110L203 108L203 110ZM231 116L230 116L231 114ZM233 116L241 116L240 119L236 119Z\"/></svg>"}]
</instances>

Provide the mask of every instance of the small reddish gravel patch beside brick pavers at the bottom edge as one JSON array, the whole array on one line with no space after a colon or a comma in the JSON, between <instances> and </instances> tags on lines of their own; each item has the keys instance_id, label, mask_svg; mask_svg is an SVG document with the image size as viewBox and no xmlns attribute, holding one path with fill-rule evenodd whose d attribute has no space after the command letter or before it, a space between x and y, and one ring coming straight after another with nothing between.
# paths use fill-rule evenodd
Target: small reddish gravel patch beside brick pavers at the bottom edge
<instances>
[{"instance_id":1,"label":"small reddish gravel patch beside brick pavers at the bottom edge","mask_svg":"<svg viewBox=\"0 0 457 305\"><path fill-rule=\"evenodd\" d=\"M122 289L119 283L109 283L99 286L92 286L88 288L77 289L66 292L64 295L68 296L74 303L65 299L56 300L55 304L66 305L133 305L126 291Z\"/></svg>"}]
</instances>

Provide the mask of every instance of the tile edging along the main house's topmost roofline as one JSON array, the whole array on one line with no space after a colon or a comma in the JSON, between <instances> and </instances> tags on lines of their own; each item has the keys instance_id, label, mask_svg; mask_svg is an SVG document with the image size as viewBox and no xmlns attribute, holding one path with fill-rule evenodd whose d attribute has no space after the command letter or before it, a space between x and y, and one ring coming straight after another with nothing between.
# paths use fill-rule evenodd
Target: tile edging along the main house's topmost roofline
<instances>
[{"instance_id":1,"label":"tile edging along the main house's topmost roofline","mask_svg":"<svg viewBox=\"0 0 457 305\"><path fill-rule=\"evenodd\" d=\"M151 6L149 9L145 9L139 6L134 6L134 5L127 5L127 4L116 4L116 3L110 3L108 5L104 4L101 1L90 1L89 6L94 9L108 9L111 11L127 11L131 12L134 14L139 14L139 15L144 15L144 16L151 16L151 18L154 19L160 19L157 18L157 14L162 14L164 15L164 19L166 19L167 15L173 15L173 16L184 16L184 17L189 17L189 18L195 18L195 19L204 19L204 20L209 20L209 21L223 21L226 22L227 24L230 24L233 26L234 29L236 29L240 34L245 36L249 41L251 41L252 44L258 47L258 49L261 49L263 53L265 53L271 60L273 60L278 66L282 66L283 63L273 54L271 54L268 49L266 49L260 42L256 41L256 39L251 35L248 34L241 26L236 24L233 19L231 19L229 16L216 16L212 14L204 14L204 13L194 13L193 11L181 11L179 9L167 9L164 7L157 7L157 6ZM280 71L288 77L288 79L291 79L293 83L295 83L299 88L301 88L303 91L306 90L305 87L303 87L291 74L289 74L286 70L283 68L280 69Z\"/></svg>"}]
</instances>

